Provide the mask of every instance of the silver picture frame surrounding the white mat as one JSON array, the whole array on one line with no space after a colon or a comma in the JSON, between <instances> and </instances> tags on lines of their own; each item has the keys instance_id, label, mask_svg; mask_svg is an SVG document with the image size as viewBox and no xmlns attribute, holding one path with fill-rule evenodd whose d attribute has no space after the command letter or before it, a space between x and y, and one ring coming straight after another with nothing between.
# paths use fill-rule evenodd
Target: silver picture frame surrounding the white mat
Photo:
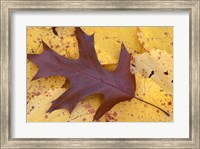
<instances>
[{"instance_id":1,"label":"silver picture frame surrounding the white mat","mask_svg":"<svg viewBox=\"0 0 200 149\"><path fill-rule=\"evenodd\" d=\"M139 10L190 13L189 138L48 139L11 137L11 15L16 10ZM1 0L1 148L200 148L200 1L199 0Z\"/></svg>"}]
</instances>

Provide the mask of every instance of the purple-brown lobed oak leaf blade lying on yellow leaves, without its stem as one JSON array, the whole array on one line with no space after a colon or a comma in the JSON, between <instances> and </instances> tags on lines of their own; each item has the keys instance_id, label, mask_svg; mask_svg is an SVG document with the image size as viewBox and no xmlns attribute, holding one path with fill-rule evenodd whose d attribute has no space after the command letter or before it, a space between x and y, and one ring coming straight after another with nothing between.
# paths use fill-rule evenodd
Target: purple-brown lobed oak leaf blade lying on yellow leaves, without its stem
<instances>
[{"instance_id":1,"label":"purple-brown lobed oak leaf blade lying on yellow leaves, without its stem","mask_svg":"<svg viewBox=\"0 0 200 149\"><path fill-rule=\"evenodd\" d=\"M77 60L60 56L43 43L43 53L28 54L39 71L33 79L48 76L65 76L70 80L70 87L52 102L48 112L65 108L70 113L78 102L91 94L102 94L104 101L97 109L94 120L98 120L113 106L135 96L135 75L130 73L130 54L122 44L119 63L115 71L102 68L94 49L94 37L88 36L76 28L80 57Z\"/></svg>"}]
</instances>

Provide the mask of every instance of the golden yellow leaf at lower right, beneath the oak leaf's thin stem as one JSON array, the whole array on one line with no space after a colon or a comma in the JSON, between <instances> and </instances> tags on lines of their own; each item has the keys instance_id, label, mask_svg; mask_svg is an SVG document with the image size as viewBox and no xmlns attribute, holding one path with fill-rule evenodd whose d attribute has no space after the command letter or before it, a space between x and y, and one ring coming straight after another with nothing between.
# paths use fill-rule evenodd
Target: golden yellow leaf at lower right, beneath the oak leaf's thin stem
<instances>
[{"instance_id":1,"label":"golden yellow leaf at lower right, beneath the oak leaf's thin stem","mask_svg":"<svg viewBox=\"0 0 200 149\"><path fill-rule=\"evenodd\" d=\"M105 114L101 120L116 122L171 122L173 121L173 101L162 88L149 78L136 74L136 97L154 104L170 114L135 98L121 102Z\"/></svg>"}]
</instances>

